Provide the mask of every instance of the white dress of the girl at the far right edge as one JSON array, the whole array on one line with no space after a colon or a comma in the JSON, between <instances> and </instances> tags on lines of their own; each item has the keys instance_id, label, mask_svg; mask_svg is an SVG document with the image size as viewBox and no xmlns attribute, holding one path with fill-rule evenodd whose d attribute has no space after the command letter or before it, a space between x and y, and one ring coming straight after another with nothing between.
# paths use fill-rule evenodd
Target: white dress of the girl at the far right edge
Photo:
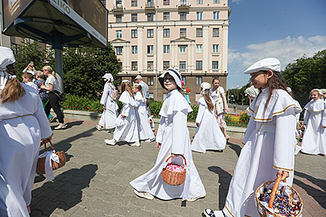
<instances>
[{"instance_id":1,"label":"white dress of the girl at the far right edge","mask_svg":"<svg viewBox=\"0 0 326 217\"><path fill-rule=\"evenodd\" d=\"M318 99L304 106L307 114L304 118L302 152L311 155L326 155L326 102Z\"/></svg>"}]
</instances>

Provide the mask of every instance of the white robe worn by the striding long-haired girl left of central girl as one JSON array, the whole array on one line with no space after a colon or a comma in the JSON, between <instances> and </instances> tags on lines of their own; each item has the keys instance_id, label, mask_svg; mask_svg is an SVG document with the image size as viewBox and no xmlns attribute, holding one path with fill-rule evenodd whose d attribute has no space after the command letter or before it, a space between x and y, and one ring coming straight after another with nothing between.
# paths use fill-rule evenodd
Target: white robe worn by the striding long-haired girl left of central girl
<instances>
[{"instance_id":1,"label":"white robe worn by the striding long-haired girl left of central girl","mask_svg":"<svg viewBox=\"0 0 326 217\"><path fill-rule=\"evenodd\" d=\"M135 114L135 100L130 94L124 91L119 101L123 103L120 115L117 118L117 127L114 130L115 141L136 142L139 141L137 119ZM121 118L121 115L126 116Z\"/></svg>"}]
</instances>

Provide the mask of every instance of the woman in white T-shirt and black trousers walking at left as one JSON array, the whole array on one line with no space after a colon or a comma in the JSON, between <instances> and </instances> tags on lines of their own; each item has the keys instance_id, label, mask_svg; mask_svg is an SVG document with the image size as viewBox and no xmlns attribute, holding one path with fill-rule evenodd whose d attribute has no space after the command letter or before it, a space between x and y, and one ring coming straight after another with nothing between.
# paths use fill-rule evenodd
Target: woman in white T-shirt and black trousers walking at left
<instances>
[{"instance_id":1,"label":"woman in white T-shirt and black trousers walking at left","mask_svg":"<svg viewBox=\"0 0 326 217\"><path fill-rule=\"evenodd\" d=\"M55 130L65 129L67 124L63 121L63 114L59 105L59 95L62 93L59 82L57 78L55 78L55 72L50 66L43 67L44 76L47 76L45 85L42 84L41 88L46 89L46 92L49 94L49 103L45 106L46 116L49 116L51 108L57 115L59 125L54 128Z\"/></svg>"}]
</instances>

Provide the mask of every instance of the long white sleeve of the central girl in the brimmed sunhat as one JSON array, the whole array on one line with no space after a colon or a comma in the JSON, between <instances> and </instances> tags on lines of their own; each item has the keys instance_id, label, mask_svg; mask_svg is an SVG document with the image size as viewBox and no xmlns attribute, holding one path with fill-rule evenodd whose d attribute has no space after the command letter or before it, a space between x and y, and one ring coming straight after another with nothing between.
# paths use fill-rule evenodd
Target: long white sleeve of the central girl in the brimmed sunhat
<instances>
[{"instance_id":1,"label":"long white sleeve of the central girl in the brimmed sunhat","mask_svg":"<svg viewBox=\"0 0 326 217\"><path fill-rule=\"evenodd\" d=\"M186 112L182 110L173 114L172 154L185 155L186 138L189 137Z\"/></svg>"}]
</instances>

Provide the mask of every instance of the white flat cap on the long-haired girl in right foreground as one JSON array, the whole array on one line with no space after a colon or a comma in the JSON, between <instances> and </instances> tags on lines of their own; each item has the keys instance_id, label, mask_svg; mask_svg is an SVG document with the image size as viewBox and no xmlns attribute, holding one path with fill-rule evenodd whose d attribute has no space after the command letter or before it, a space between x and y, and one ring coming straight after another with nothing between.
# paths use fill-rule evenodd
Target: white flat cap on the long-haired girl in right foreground
<instances>
[{"instance_id":1,"label":"white flat cap on the long-haired girl in right foreground","mask_svg":"<svg viewBox=\"0 0 326 217\"><path fill-rule=\"evenodd\" d=\"M281 62L276 58L265 58L263 60L259 60L255 64L252 64L246 71L245 74L250 74L257 71L281 71Z\"/></svg>"}]
</instances>

